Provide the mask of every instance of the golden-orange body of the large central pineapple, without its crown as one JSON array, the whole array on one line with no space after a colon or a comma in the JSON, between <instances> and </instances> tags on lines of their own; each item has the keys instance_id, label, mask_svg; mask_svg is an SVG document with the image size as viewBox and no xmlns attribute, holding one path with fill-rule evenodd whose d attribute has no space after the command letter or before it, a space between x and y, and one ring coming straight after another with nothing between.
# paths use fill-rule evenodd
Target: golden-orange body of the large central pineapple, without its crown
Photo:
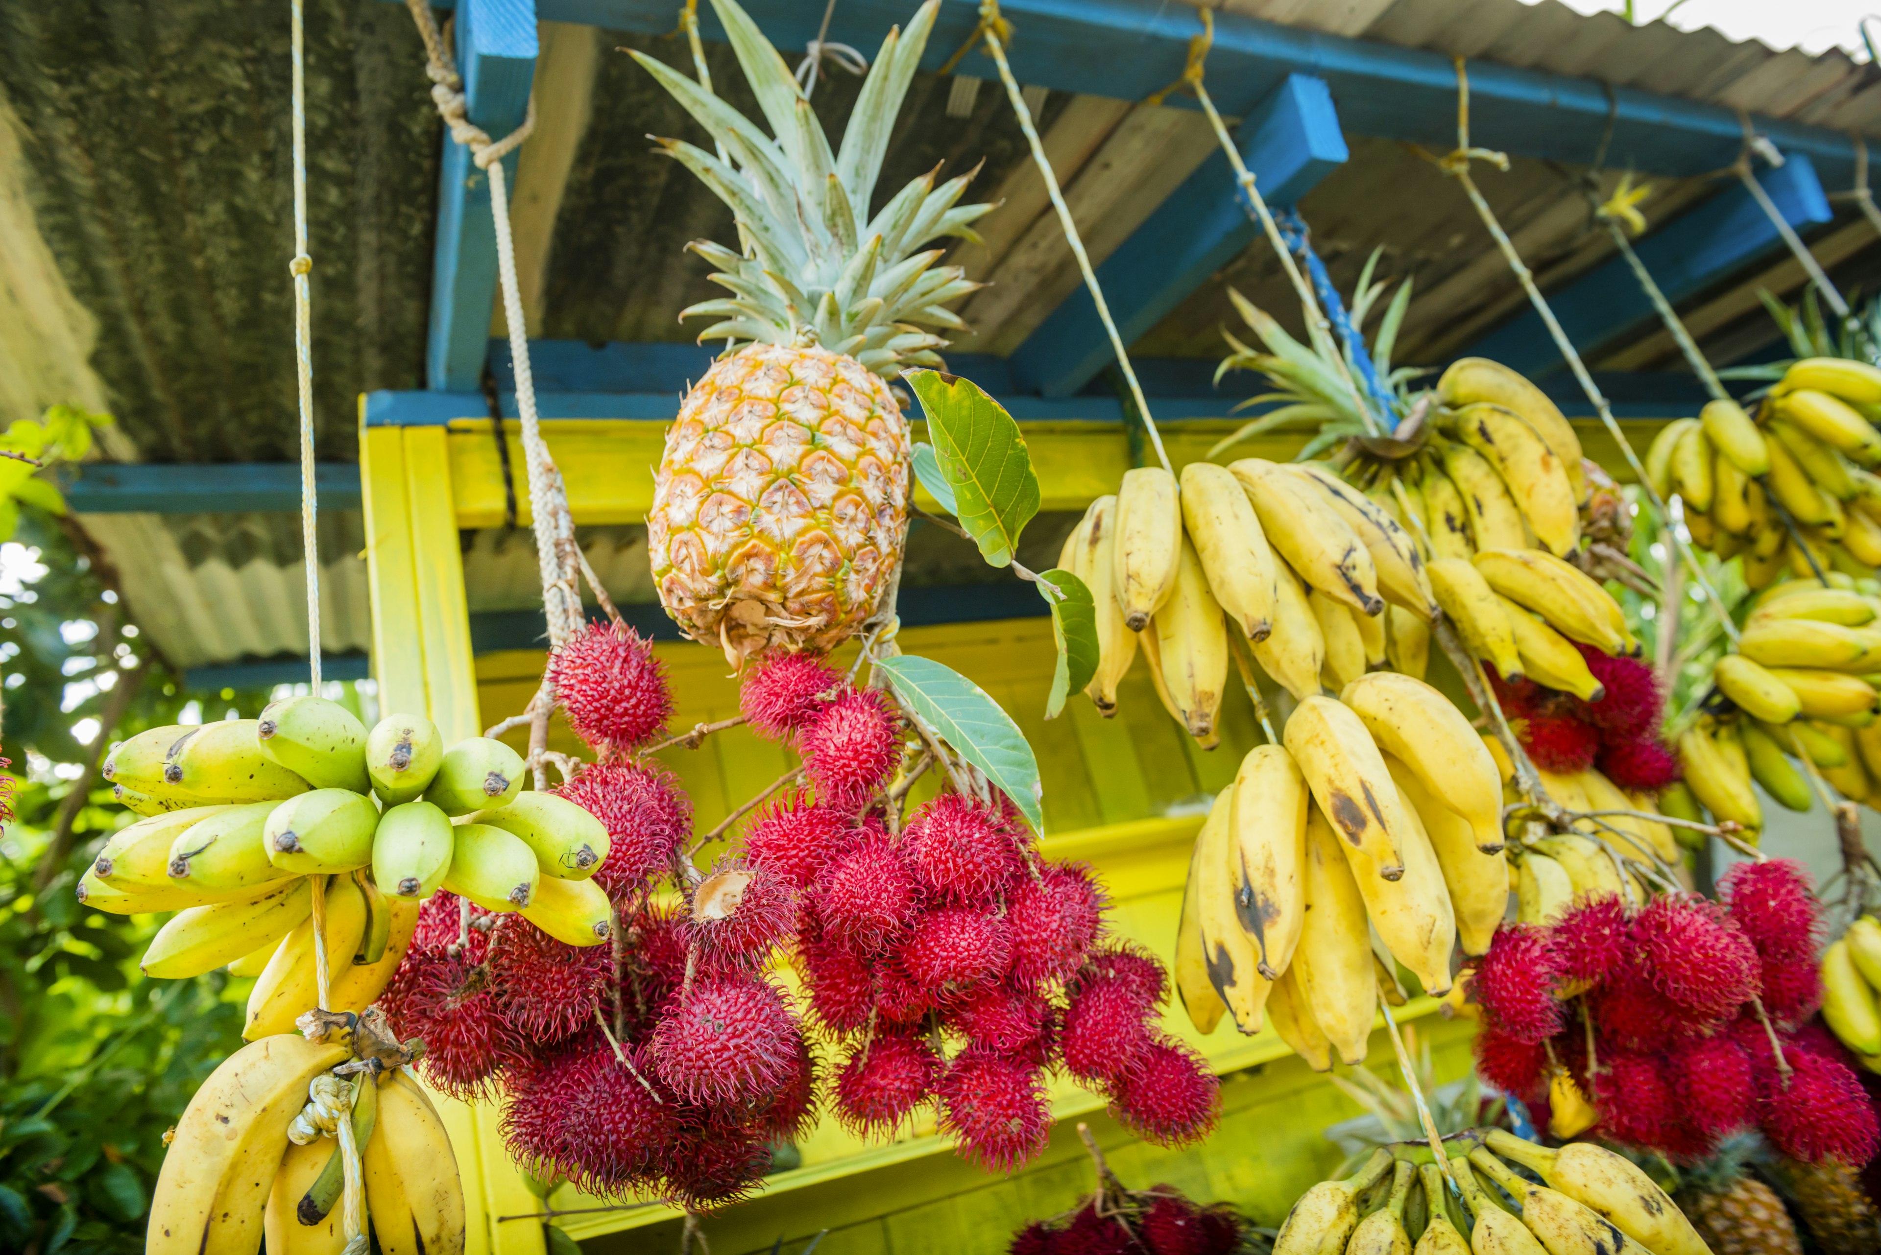
<instances>
[{"instance_id":1,"label":"golden-orange body of the large central pineapple, without its crown","mask_svg":"<svg viewBox=\"0 0 1881 1255\"><path fill-rule=\"evenodd\" d=\"M747 344L687 393L647 512L660 604L743 662L833 649L875 610L909 521L909 421L816 346Z\"/></svg>"}]
</instances>

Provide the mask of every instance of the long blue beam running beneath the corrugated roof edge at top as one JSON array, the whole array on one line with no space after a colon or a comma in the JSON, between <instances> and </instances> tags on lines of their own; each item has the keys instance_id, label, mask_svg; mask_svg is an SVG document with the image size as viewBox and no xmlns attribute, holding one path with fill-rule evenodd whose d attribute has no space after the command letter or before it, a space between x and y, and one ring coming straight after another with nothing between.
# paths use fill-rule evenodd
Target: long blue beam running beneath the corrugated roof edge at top
<instances>
[{"instance_id":1,"label":"long blue beam running beneath the corrugated roof edge at top","mask_svg":"<svg viewBox=\"0 0 1881 1255\"><path fill-rule=\"evenodd\" d=\"M673 0L540 0L538 8L544 21L638 34L673 28ZM743 8L777 47L801 49L816 36L824 6L743 0ZM912 0L843 0L830 40L873 55L888 28L907 23L912 9ZM1003 0L1001 11L1014 24L1010 58L1021 83L1119 100L1142 100L1181 75L1198 30L1191 8L1166 0ZM939 70L976 21L972 0L944 0L922 66ZM700 6L700 28L707 40L724 40L709 4ZM980 53L969 55L959 71L995 75ZM1208 87L1223 113L1253 113L1288 73L1324 79L1349 134L1409 139L1445 152L1456 145L1456 70L1443 53L1215 15ZM1606 126L1606 90L1591 77L1471 62L1469 94L1471 139L1520 156L1588 162ZM1181 96L1170 103L1193 107ZM1744 141L1731 109L1625 87L1614 92L1614 167L1702 175L1736 160ZM1753 124L1785 152L1810 154L1832 186L1853 183L1855 151L1845 134L1762 117Z\"/></svg>"}]
</instances>

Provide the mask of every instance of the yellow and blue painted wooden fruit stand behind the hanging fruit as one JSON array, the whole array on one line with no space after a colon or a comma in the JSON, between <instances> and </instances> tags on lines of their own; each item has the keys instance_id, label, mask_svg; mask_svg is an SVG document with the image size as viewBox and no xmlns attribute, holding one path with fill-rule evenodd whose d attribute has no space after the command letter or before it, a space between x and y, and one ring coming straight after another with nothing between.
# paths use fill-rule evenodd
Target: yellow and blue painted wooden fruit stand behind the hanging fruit
<instances>
[{"instance_id":1,"label":"yellow and blue painted wooden fruit stand behind the hanging fruit","mask_svg":"<svg viewBox=\"0 0 1881 1255\"><path fill-rule=\"evenodd\" d=\"M803 47L820 36L865 53L912 11L905 0L837 0L830 13L805 0L752 0L747 8L777 47ZM1507 198L1512 209L1522 198L1556 205L1524 214L1520 230L1531 237L1524 246L1535 243L1529 254L1548 256L1542 282L1550 299L1569 337L1603 371L1635 448L1644 450L1667 418L1695 412L1702 391L1683 374L1657 369L1672 350L1655 335L1652 307L1620 260L1576 243L1586 207L1573 179L1552 164L1584 164L1604 151L1603 186L1627 169L1663 183L1648 203L1653 231L1638 252L1700 335L1729 335L1751 316L1761 318L1759 284L1794 292L1800 282L1783 269L1798 267L1785 260L1776 226L1749 196L1734 183L1706 179L1738 158L1746 126L1785 158L1779 167L1762 167L1761 177L1783 218L1811 239L1825 263L1857 265L1872 256L1864 252L1873 243L1872 228L1847 211L1838 216L1825 192L1855 181L1849 130L1881 128L1881 79L1872 70L1857 71L1847 58L1836 60L1840 55L1811 60L1734 51L1710 32L1633 30L1610 15L1582 19L1552 4L1531 9L1516 0L1398 0L1360 8L1364 13L1341 17L1345 26L1337 30L1281 24L1296 21L1294 6L1264 0L1230 0L1217 15L1208 83L1260 188L1275 207L1302 205L1322 231L1319 243L1328 256L1328 239L1347 256L1356 252L1356 260L1379 243L1418 239L1433 250L1454 250L1456 243L1441 241L1478 241L1480 228L1460 194L1407 149L1443 152L1454 143L1452 55L1471 56L1475 143L1516 162L1509 183L1492 184L1490 194ZM521 258L525 271L534 267L532 316L549 284L549 228L562 250L557 282L566 286L572 269L615 265L602 252L589 262L576 256L593 241L621 245L606 230L577 235L570 224L593 228L613 214L645 226L651 237L638 254L647 273L630 288L638 312L658 310L656 322L647 314L621 326L658 326L660 335L679 335L670 320L685 301L668 297L694 292L696 284L685 284L698 269L679 258L679 245L717 233L715 224L702 220L702 201L666 207L656 186L608 184L594 173L608 158L606 145L594 134L576 141L577 130L600 126L589 94L608 90L604 83L651 102L649 85L632 77L640 71L626 58L598 68L596 56L611 56L602 49L617 41L615 34L647 47L651 36L672 30L673 9L668 0L455 4L451 38L470 120L491 135L508 134L525 120L534 90L536 130L523 147L514 214L519 252L534 248L532 260ZM1138 371L1170 457L1178 469L1202 459L1241 421L1232 410L1251 395L1245 382L1211 382L1223 350L1215 337L1225 309L1221 273L1243 267L1241 282L1257 297L1260 284L1270 284L1272 299L1262 305L1281 309L1287 301L1273 295L1277 271L1206 126L1198 135L1198 119L1181 96L1159 109L1130 103L1181 75L1196 15L1155 0L1008 0L1003 13L1016 30L1014 71L1038 96L1046 151L1068 184L1074 213L1097 224L1097 273L1123 339L1142 354ZM1121 474L1138 465L1142 429L1108 382L1108 341L1091 299L1074 275L1067 278L1063 239L1044 190L1035 175L1027 177L1029 164L1014 134L1006 134L1014 128L995 100L997 83L986 83L991 64L972 53L950 68L950 81L937 73L976 23L974 4L942 4L918 85L925 103L903 122L909 130L897 143L907 152L892 158L971 164L984 147L1004 143L993 152L988 186L976 194L1008 209L982 224L986 245L963 246L982 250L976 277L995 282L965 309L984 333L965 346L969 352L950 354L948 363L993 393L1025 429L1042 485L1040 516L1025 544L1044 559L1027 563L1048 568L1087 502L1114 491ZM724 32L703 6L700 24L720 90L741 92ZM662 56L683 60L683 51L673 53L683 43L662 47ZM1621 53L1631 58L1625 75L1635 85L1604 87L1593 75L1620 73L1614 66L1625 60ZM410 71L418 73L416 62ZM820 90L854 90L841 77L830 83ZM643 119L615 122L608 143L645 149ZM662 115L660 124L679 122ZM995 134L1001 126L1004 132ZM517 160L506 158L512 173ZM574 186L570 171L579 162L589 162L579 171L589 201L572 205L561 198L568 196L564 186ZM545 186L555 190L532 196ZM497 258L487 183L448 137L435 222L425 386L359 397L357 502L380 709L425 711L450 743L519 713L540 681L544 651L540 612L523 608L534 587L534 557L527 532L515 531L529 525L529 500L521 491L514 363L491 326ZM1420 288L1426 312L1413 316L1422 337L1418 352L1398 357L1441 363L1490 356L1544 384L1565 384L1557 397L1567 412L1586 414L1571 380L1546 373L1554 361L1546 331L1520 303L1501 260L1480 243L1445 282ZM1249 258L1257 260L1253 269ZM681 267L687 277L670 278ZM1349 278L1349 271L1341 277ZM1492 295L1477 299L1482 292ZM574 322L564 318L561 326ZM581 333L606 326L606 318L591 318ZM530 331L538 333L534 326ZM530 350L542 427L566 478L587 557L623 613L658 638L677 698L672 726L724 719L735 713L735 683L719 653L677 640L666 623L655 604L641 529L664 427L687 384L703 374L711 350L608 341L606 333L602 341L555 339L553 329L542 335ZM920 423L916 429L920 438ZM1576 418L1576 431L1589 457L1608 469L1623 465L1597 423ZM1238 448L1238 455L1275 459L1294 452L1288 438ZM117 557L134 606L156 608L190 595L213 600L207 585L162 587L160 553L139 548L139 519L190 508L282 508L269 504L269 493L280 495L277 485L293 484L282 470L250 467L211 493L198 489L179 499L164 487L166 469L119 467L81 476L71 500ZM350 493L350 484L337 485L333 502L344 510ZM935 504L924 493L916 500ZM1206 800L1260 741L1247 696L1230 694L1223 743L1213 753L1202 753L1162 713L1142 668L1125 679L1115 719L1100 719L1074 698L1059 719L1044 721L1051 627L1042 602L1010 578L988 581L993 576L984 570L963 576L971 563L950 553L952 544L916 521L899 602L903 645L969 675L1012 713L1042 771L1042 852L1087 860L1115 903L1117 931L1168 958ZM141 553L152 561L139 561ZM207 659L218 660L228 659ZM521 738L512 734L514 743ZM576 749L559 724L551 745ZM668 749L662 758L692 796L702 830L786 766L782 749L741 728L700 749ZM1399 1020L1420 1025L1448 1080L1469 1067L1471 1024L1435 1010L1431 999L1413 999ZM796 1167L781 1163L756 1200L707 1221L713 1249L769 1249L779 1234L801 1244L822 1229L833 1231L828 1249L845 1255L1003 1249L1018 1225L1061 1210L1087 1187L1089 1165L1068 1123L1074 1116L1091 1121L1125 1178L1170 1180L1196 1199L1230 1200L1272 1223L1337 1159L1320 1131L1351 1114L1351 1104L1272 1031L1240 1037L1225 1022L1196 1039L1179 1009L1166 1014L1164 1027L1196 1041L1225 1076L1221 1127L1198 1148L1159 1152L1136 1144L1104 1118L1100 1099L1070 1086L1053 1091L1059 1125L1050 1150L1010 1180L948 1155L931 1120L890 1144L865 1144L824 1121L796 1148ZM1373 1063L1390 1054L1381 1035ZM508 1159L497 1110L450 1103L446 1118L472 1215L468 1249L544 1249L545 1204ZM600 1200L559 1189L547 1208L561 1212L559 1227L591 1242L591 1249L677 1246L679 1215L658 1204L602 1208Z\"/></svg>"}]
</instances>

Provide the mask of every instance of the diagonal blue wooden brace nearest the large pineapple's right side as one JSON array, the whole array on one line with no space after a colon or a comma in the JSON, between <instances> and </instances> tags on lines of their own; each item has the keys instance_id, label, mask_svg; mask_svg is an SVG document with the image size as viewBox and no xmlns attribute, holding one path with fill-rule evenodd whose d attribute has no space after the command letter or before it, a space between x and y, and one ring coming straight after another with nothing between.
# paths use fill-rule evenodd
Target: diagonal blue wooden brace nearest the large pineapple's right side
<instances>
[{"instance_id":1,"label":"diagonal blue wooden brace nearest the large pineapple's right side","mask_svg":"<svg viewBox=\"0 0 1881 1255\"><path fill-rule=\"evenodd\" d=\"M1294 205L1347 158L1324 79L1287 79L1236 135L1255 186L1275 209ZM1130 344L1258 235L1228 158L1211 154L1097 267L1123 342ZM1114 361L1097 305L1082 284L1012 354L1021 391L1068 397Z\"/></svg>"}]
</instances>

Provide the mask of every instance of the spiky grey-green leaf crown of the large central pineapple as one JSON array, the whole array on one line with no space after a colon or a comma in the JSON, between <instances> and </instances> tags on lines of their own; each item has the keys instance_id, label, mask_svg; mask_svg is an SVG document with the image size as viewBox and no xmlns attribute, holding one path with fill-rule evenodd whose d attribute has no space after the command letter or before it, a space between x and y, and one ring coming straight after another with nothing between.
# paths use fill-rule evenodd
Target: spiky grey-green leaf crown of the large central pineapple
<instances>
[{"instance_id":1,"label":"spiky grey-green leaf crown of the large central pineapple","mask_svg":"<svg viewBox=\"0 0 1881 1255\"><path fill-rule=\"evenodd\" d=\"M719 318L700 341L801 342L809 331L824 348L884 376L901 365L939 365L933 350L946 339L927 327L963 331L946 303L980 284L956 265L937 267L942 250L922 245L978 239L971 224L991 205L959 203L978 167L939 186L935 167L867 216L939 0L927 0L905 32L890 30L882 40L837 151L751 17L734 0L713 0L713 9L775 139L687 75L632 53L730 158L655 137L732 209L745 241L743 254L711 241L688 245L719 267L713 280L732 295L700 301L681 318Z\"/></svg>"}]
</instances>

